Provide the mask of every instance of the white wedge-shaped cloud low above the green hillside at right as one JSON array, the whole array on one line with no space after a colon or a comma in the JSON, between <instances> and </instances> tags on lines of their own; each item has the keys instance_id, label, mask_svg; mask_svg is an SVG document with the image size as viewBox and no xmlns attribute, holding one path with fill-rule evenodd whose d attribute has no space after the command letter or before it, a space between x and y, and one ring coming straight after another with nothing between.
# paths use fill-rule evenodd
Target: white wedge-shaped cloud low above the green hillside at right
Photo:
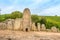
<instances>
[{"instance_id":1,"label":"white wedge-shaped cloud low above the green hillside at right","mask_svg":"<svg viewBox=\"0 0 60 40\"><path fill-rule=\"evenodd\" d=\"M60 16L60 6L58 5L58 6L54 6L54 7L44 9L43 11L41 11L38 14L40 14L40 15L58 15L58 16Z\"/></svg>"}]
</instances>

